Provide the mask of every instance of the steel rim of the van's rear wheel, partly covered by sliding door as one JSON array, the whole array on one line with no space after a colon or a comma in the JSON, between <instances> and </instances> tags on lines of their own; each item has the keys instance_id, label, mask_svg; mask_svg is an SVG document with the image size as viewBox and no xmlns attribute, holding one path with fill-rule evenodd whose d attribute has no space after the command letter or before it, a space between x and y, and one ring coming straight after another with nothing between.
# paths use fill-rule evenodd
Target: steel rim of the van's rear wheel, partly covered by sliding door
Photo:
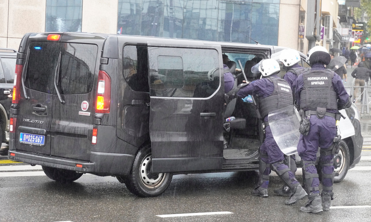
<instances>
[{"instance_id":1,"label":"steel rim of the van's rear wheel, partly covered by sliding door","mask_svg":"<svg viewBox=\"0 0 371 222\"><path fill-rule=\"evenodd\" d=\"M151 165L152 165L152 155L148 154L145 158L143 158L141 162L141 166L139 168L139 176L141 178L141 182L147 188L157 188L162 184L166 173L158 173L152 174L151 173Z\"/></svg>"}]
</instances>

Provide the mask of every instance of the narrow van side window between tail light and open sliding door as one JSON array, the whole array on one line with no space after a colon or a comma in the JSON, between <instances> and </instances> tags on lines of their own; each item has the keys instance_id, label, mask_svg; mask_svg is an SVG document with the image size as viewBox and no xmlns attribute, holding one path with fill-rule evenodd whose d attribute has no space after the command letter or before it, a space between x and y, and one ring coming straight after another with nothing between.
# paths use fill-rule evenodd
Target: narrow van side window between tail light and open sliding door
<instances>
[{"instance_id":1,"label":"narrow van side window between tail light and open sliding door","mask_svg":"<svg viewBox=\"0 0 371 222\"><path fill-rule=\"evenodd\" d=\"M124 46L124 78L129 87L138 92L149 92L148 53L146 46Z\"/></svg>"}]
</instances>

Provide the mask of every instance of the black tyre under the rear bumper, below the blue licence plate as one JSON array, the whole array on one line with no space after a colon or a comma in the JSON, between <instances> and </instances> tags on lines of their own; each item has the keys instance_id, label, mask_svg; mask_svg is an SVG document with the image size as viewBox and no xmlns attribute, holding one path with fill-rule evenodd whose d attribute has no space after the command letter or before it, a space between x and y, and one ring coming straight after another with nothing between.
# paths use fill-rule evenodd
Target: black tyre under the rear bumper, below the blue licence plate
<instances>
[{"instance_id":1,"label":"black tyre under the rear bumper, below the blue licence plate","mask_svg":"<svg viewBox=\"0 0 371 222\"><path fill-rule=\"evenodd\" d=\"M76 171L72 170L57 169L48 166L42 166L42 168L47 177L62 184L70 183L82 176L82 173L77 173Z\"/></svg>"}]
</instances>

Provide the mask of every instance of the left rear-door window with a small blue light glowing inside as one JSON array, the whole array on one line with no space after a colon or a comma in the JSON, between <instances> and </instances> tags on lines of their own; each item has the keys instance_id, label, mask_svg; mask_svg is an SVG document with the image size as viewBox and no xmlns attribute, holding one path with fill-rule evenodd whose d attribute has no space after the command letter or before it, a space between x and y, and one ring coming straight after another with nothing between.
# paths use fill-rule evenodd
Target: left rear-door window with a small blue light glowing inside
<instances>
[{"instance_id":1,"label":"left rear-door window with a small blue light glowing inside","mask_svg":"<svg viewBox=\"0 0 371 222\"><path fill-rule=\"evenodd\" d=\"M25 86L29 89L53 94L54 74L60 52L60 43L31 42Z\"/></svg>"}]
</instances>

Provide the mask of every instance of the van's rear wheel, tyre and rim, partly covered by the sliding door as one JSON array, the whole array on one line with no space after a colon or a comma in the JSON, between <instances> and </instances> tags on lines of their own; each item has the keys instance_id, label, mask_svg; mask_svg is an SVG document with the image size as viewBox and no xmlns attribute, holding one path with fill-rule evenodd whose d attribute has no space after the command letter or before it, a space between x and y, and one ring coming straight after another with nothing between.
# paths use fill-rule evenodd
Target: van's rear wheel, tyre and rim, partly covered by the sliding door
<instances>
[{"instance_id":1,"label":"van's rear wheel, tyre and rim, partly covered by the sliding door","mask_svg":"<svg viewBox=\"0 0 371 222\"><path fill-rule=\"evenodd\" d=\"M146 145L134 158L131 171L124 180L126 187L135 195L154 197L161 195L169 186L173 173L152 173L151 146Z\"/></svg>"}]
</instances>

